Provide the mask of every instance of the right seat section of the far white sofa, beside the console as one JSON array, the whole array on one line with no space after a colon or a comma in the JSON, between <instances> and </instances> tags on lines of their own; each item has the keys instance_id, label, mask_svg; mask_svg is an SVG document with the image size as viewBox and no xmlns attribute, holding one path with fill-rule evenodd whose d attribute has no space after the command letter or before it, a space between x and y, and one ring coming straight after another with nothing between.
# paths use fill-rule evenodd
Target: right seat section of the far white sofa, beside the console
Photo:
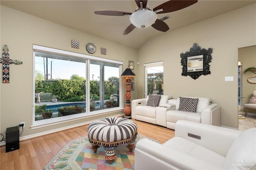
<instances>
[{"instance_id":1,"label":"right seat section of the far white sofa, beside the console","mask_svg":"<svg viewBox=\"0 0 256 170\"><path fill-rule=\"evenodd\" d=\"M180 98L170 99L168 103L175 104L175 109L166 112L167 128L175 129L175 124L178 120L220 126L220 105L212 104L212 100L207 97L186 98L198 98L196 112L179 111Z\"/></svg>"}]
</instances>

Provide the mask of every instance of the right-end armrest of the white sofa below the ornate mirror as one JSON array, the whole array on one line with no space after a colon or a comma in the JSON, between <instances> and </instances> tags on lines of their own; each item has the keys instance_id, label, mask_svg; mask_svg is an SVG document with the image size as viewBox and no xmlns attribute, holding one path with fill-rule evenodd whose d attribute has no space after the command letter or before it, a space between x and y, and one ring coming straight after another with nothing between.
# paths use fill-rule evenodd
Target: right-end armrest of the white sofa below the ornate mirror
<instances>
[{"instance_id":1,"label":"right-end armrest of the white sofa below the ornate mirror","mask_svg":"<svg viewBox=\"0 0 256 170\"><path fill-rule=\"evenodd\" d=\"M213 103L202 109L201 123L220 126L220 105Z\"/></svg>"}]
</instances>

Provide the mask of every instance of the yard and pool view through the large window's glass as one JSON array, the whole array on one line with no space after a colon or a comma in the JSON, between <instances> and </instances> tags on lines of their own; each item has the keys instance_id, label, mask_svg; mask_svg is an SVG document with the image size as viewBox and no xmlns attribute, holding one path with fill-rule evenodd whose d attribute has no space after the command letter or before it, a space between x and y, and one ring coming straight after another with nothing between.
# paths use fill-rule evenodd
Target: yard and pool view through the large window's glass
<instances>
[{"instance_id":1,"label":"yard and pool view through the large window's glass","mask_svg":"<svg viewBox=\"0 0 256 170\"><path fill-rule=\"evenodd\" d=\"M120 64L36 51L35 121L119 107ZM90 87L86 87L90 81ZM86 99L90 88L90 99Z\"/></svg>"}]
</instances>

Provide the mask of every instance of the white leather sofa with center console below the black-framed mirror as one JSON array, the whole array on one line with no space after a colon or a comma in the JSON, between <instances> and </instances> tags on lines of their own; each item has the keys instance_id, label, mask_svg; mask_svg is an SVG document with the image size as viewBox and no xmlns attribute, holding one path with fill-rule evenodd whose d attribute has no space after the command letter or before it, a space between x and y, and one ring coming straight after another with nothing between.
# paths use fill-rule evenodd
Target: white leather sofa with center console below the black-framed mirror
<instances>
[{"instance_id":1,"label":"white leather sofa with center console below the black-framed mirror","mask_svg":"<svg viewBox=\"0 0 256 170\"><path fill-rule=\"evenodd\" d=\"M216 103L212 104L210 98L182 98L191 99L193 101L197 100L194 104L195 112L186 111L186 109L190 109L191 103L188 102L184 105L182 99L182 111L182 107L180 107L180 98L172 99L170 95L161 95L159 105L156 107L146 105L148 97L145 99L132 100L132 119L171 129L175 129L175 124L178 120L220 126L220 106Z\"/></svg>"}]
</instances>

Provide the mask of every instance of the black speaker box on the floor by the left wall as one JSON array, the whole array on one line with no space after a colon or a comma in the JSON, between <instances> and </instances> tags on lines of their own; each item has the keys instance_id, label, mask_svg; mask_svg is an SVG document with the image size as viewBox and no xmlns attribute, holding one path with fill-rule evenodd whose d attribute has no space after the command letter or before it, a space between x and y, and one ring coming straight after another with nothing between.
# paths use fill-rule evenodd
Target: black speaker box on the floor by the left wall
<instances>
[{"instance_id":1,"label":"black speaker box on the floor by the left wall","mask_svg":"<svg viewBox=\"0 0 256 170\"><path fill-rule=\"evenodd\" d=\"M18 126L6 128L5 148L5 152L10 152L20 148L20 130Z\"/></svg>"}]
</instances>

